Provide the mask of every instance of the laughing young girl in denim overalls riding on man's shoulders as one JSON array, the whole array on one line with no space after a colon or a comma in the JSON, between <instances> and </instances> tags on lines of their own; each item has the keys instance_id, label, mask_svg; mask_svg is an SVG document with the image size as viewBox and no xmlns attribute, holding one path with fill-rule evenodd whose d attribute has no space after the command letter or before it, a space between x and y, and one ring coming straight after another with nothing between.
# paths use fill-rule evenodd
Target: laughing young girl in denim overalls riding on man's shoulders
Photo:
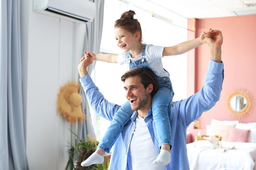
<instances>
[{"instance_id":1,"label":"laughing young girl in denim overalls riding on man's shoulders","mask_svg":"<svg viewBox=\"0 0 256 170\"><path fill-rule=\"evenodd\" d=\"M163 68L162 57L169 55L179 55L194 49L205 43L205 32L199 38L182 42L175 46L162 47L152 44L143 44L141 26L137 19L134 19L134 11L126 11L121 18L115 22L115 39L117 45L123 50L119 55L94 54L85 52L85 57L90 60L99 60L118 64L129 64L130 69L135 67L150 68L157 78L158 91L153 96L152 113L157 129L160 153L153 163L165 166L171 161L171 126L168 115L168 106L173 99L173 88L169 73ZM210 36L210 35L208 35ZM81 59L81 61L83 58ZM106 134L100 141L97 150L85 161L82 166L90 166L94 163L103 163L103 155L110 152L118 135L123 130L124 125L130 120L135 109L131 109L130 103L136 102L136 98L126 102L113 117Z\"/></svg>"}]
</instances>

